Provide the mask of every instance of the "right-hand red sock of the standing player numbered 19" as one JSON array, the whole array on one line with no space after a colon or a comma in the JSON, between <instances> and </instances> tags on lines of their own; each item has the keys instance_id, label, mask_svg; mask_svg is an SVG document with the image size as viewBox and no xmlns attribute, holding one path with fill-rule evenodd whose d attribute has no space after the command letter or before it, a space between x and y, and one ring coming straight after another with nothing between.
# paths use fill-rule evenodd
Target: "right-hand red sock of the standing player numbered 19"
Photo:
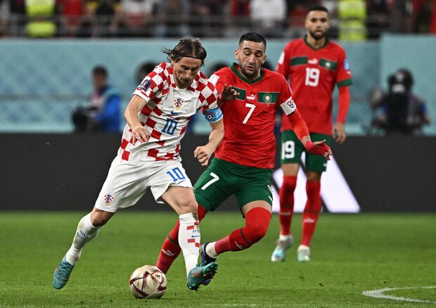
<instances>
[{"instance_id":1,"label":"right-hand red sock of the standing player numbered 19","mask_svg":"<svg viewBox=\"0 0 436 308\"><path fill-rule=\"evenodd\" d=\"M308 181L306 183L306 191L307 203L303 212L301 245L310 246L316 222L318 222L319 212L321 212L321 183L318 181Z\"/></svg>"}]
</instances>

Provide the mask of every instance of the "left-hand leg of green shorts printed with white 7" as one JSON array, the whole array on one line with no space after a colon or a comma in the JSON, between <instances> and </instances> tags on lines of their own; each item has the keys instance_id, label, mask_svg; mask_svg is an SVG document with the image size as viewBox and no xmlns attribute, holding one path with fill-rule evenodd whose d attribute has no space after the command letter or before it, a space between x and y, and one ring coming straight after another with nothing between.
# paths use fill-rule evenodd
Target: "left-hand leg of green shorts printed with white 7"
<instances>
[{"instance_id":1,"label":"left-hand leg of green shorts printed with white 7","mask_svg":"<svg viewBox=\"0 0 436 308\"><path fill-rule=\"evenodd\" d=\"M207 212L214 211L236 192L232 164L213 158L194 186L195 199Z\"/></svg>"}]
</instances>

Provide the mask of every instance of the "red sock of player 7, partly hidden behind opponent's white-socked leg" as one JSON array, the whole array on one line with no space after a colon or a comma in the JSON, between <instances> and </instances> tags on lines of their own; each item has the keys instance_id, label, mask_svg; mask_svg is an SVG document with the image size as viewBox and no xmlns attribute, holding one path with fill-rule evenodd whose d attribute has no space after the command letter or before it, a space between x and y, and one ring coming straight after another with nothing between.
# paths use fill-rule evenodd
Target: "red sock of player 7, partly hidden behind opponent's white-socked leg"
<instances>
[{"instance_id":1,"label":"red sock of player 7, partly hidden behind opponent's white-socked leg","mask_svg":"<svg viewBox=\"0 0 436 308\"><path fill-rule=\"evenodd\" d=\"M206 210L201 205L198 205L198 221L205 217ZM169 267L175 259L180 255L181 249L179 246L179 219L177 219L174 228L169 232L169 236L165 239L162 245L156 267L160 269L164 274L167 274Z\"/></svg>"}]
</instances>

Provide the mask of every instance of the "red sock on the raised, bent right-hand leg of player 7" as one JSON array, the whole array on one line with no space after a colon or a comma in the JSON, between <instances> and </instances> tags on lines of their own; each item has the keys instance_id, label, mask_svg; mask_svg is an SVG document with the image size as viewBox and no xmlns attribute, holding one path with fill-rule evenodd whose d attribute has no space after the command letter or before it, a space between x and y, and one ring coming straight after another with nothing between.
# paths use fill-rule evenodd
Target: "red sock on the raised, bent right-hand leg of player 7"
<instances>
[{"instance_id":1,"label":"red sock on the raised, bent right-hand leg of player 7","mask_svg":"<svg viewBox=\"0 0 436 308\"><path fill-rule=\"evenodd\" d=\"M215 251L221 254L226 251L239 251L249 248L261 240L267 233L271 213L262 207L255 207L245 214L245 226L233 231L229 236L217 240Z\"/></svg>"}]
</instances>

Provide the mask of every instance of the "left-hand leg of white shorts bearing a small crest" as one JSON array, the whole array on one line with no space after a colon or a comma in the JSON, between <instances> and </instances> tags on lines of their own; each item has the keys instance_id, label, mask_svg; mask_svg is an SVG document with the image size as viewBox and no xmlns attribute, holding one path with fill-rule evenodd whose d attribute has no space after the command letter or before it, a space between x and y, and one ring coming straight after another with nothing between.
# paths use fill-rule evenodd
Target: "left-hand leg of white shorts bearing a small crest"
<instances>
[{"instance_id":1,"label":"left-hand leg of white shorts bearing a small crest","mask_svg":"<svg viewBox=\"0 0 436 308\"><path fill-rule=\"evenodd\" d=\"M135 205L147 191L146 174L140 168L115 158L98 194L96 209L117 212L119 208Z\"/></svg>"}]
</instances>

